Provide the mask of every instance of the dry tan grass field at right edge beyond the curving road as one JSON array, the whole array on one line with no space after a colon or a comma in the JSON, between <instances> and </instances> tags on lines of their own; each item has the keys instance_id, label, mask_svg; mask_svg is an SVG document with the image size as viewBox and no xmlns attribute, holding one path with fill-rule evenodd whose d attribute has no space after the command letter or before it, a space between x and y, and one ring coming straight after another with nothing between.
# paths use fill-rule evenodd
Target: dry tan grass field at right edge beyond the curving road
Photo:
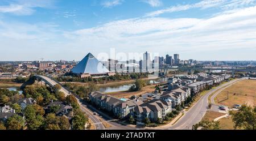
<instances>
[{"instance_id":1,"label":"dry tan grass field at right edge beyond the curving road","mask_svg":"<svg viewBox=\"0 0 256 141\"><path fill-rule=\"evenodd\" d=\"M220 105L232 107L234 104L256 104L256 80L243 80L224 89L214 101Z\"/></svg>"}]
</instances>

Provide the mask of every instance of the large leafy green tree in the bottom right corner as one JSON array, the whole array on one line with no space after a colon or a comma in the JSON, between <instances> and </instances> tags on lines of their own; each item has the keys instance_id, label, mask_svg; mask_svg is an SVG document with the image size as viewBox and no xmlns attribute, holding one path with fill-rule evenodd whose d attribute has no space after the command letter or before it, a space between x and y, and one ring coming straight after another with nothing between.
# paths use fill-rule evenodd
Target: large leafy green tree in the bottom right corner
<instances>
[{"instance_id":1,"label":"large leafy green tree in the bottom right corner","mask_svg":"<svg viewBox=\"0 0 256 141\"><path fill-rule=\"evenodd\" d=\"M232 115L235 129L256 129L256 106L252 108L251 106L242 105L238 112L230 112L230 114Z\"/></svg>"}]
</instances>

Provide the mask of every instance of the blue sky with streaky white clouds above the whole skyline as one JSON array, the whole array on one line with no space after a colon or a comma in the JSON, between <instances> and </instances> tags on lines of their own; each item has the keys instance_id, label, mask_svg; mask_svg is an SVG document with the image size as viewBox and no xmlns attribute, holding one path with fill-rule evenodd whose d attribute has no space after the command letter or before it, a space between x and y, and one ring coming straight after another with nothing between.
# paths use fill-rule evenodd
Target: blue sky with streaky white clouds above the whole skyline
<instances>
[{"instance_id":1,"label":"blue sky with streaky white clouds above the whole skyline","mask_svg":"<svg viewBox=\"0 0 256 141\"><path fill-rule=\"evenodd\" d=\"M256 0L0 1L0 61L79 61L113 49L256 60Z\"/></svg>"}]
</instances>

